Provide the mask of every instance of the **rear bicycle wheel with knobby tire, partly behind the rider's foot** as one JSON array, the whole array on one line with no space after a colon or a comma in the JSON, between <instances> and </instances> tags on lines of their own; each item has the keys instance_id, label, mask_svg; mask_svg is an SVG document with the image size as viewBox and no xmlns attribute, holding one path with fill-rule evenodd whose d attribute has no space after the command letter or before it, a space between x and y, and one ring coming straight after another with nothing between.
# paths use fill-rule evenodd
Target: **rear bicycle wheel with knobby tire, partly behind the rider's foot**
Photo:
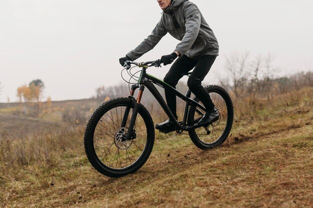
<instances>
[{"instance_id":1,"label":"rear bicycle wheel with knobby tire, partly behind the rider's foot","mask_svg":"<svg viewBox=\"0 0 313 208\"><path fill-rule=\"evenodd\" d=\"M219 119L207 127L190 130L189 137L193 144L200 149L209 149L221 145L228 137L233 122L233 106L229 94L222 87L209 85L205 87L215 108L218 109ZM199 99L194 97L195 101ZM200 102L200 104L202 104ZM193 125L204 115L204 111L191 105L188 111L188 125Z\"/></svg>"}]
</instances>

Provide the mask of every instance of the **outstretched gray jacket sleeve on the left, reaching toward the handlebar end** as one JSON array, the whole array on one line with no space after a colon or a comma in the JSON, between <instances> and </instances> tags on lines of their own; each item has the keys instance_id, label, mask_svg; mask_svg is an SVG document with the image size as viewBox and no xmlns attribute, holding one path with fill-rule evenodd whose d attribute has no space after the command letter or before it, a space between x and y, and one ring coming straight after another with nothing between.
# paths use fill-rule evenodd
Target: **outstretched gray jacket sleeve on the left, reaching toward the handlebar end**
<instances>
[{"instance_id":1,"label":"outstretched gray jacket sleeve on the left, reaching toward the handlebar end","mask_svg":"<svg viewBox=\"0 0 313 208\"><path fill-rule=\"evenodd\" d=\"M152 33L145 38L135 49L131 50L126 54L132 61L136 60L144 53L148 52L160 41L160 39L167 33L165 29L162 19L156 24Z\"/></svg>"}]
</instances>

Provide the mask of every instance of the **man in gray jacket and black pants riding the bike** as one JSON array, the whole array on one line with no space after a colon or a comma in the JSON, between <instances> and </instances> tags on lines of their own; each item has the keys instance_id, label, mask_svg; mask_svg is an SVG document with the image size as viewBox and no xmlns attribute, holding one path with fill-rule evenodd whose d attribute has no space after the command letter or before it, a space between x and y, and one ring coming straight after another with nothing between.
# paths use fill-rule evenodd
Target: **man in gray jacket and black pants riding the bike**
<instances>
[{"instance_id":1,"label":"man in gray jacket and black pants riding the bike","mask_svg":"<svg viewBox=\"0 0 313 208\"><path fill-rule=\"evenodd\" d=\"M180 40L174 52L160 58L158 66L161 63L170 64L178 56L164 77L164 82L174 88L183 76L182 74L194 68L187 85L206 109L206 113L196 125L206 126L219 118L208 92L201 85L218 55L216 37L194 3L188 0L157 0L157 2L163 10L161 19L152 33L125 57L120 58L119 63L123 66L125 61L134 61L139 58L151 50L167 32ZM170 111L177 119L175 95L165 89L165 99ZM169 119L156 124L155 128L166 133L175 130Z\"/></svg>"}]
</instances>

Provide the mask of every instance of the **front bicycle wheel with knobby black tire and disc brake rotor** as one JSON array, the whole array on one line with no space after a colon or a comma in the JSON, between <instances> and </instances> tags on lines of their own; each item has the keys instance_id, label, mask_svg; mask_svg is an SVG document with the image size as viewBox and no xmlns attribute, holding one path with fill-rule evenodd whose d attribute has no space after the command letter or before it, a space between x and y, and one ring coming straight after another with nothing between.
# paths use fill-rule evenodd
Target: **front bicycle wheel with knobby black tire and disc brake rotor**
<instances>
[{"instance_id":1,"label":"front bicycle wheel with knobby black tire and disc brake rotor","mask_svg":"<svg viewBox=\"0 0 313 208\"><path fill-rule=\"evenodd\" d=\"M114 98L100 105L89 118L84 148L95 170L109 177L137 171L148 159L154 143L154 125L149 112L138 104L131 138L128 132L131 98Z\"/></svg>"}]
</instances>

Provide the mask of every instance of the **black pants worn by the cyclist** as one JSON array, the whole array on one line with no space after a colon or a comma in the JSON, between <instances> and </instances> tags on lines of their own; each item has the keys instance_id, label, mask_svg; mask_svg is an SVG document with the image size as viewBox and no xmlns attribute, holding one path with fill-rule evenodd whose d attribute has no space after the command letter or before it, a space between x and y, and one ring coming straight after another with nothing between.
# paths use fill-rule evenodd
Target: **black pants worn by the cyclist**
<instances>
[{"instance_id":1,"label":"black pants worn by the cyclist","mask_svg":"<svg viewBox=\"0 0 313 208\"><path fill-rule=\"evenodd\" d=\"M183 55L170 67L164 77L164 82L175 88L178 80L182 77L181 74L190 71L194 67L188 78L187 85L191 92L203 103L206 110L211 110L214 108L214 104L201 82L210 70L215 58L216 56L213 55L203 55L199 59L191 59ZM175 94L165 89L165 98L170 111L177 117Z\"/></svg>"}]
</instances>

